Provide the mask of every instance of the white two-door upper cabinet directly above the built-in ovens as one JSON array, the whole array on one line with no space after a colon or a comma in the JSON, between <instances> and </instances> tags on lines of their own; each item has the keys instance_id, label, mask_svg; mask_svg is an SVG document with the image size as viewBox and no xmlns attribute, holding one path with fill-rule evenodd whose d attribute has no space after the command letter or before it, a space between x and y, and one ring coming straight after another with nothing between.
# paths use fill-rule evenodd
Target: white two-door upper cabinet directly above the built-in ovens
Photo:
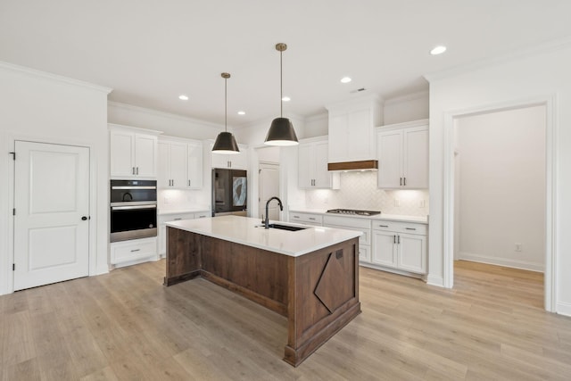
<instances>
[{"instance_id":1,"label":"white two-door upper cabinet directly above the built-in ovens","mask_svg":"<svg viewBox=\"0 0 571 381\"><path fill-rule=\"evenodd\" d=\"M111 178L156 178L160 131L110 124Z\"/></svg>"}]
</instances>

